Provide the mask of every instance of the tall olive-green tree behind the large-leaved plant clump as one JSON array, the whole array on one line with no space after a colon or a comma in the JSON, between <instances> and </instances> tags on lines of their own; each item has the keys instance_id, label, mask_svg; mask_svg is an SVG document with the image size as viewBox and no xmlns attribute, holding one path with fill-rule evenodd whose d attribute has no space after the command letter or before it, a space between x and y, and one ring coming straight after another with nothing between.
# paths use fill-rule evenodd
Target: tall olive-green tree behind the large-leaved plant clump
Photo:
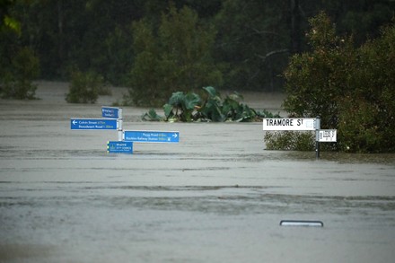
<instances>
[{"instance_id":1,"label":"tall olive-green tree behind the large-leaved plant clump","mask_svg":"<svg viewBox=\"0 0 395 263\"><path fill-rule=\"evenodd\" d=\"M158 106L175 89L187 92L222 82L211 57L216 32L203 27L196 12L171 6L156 31L146 20L134 23L136 59L126 104Z\"/></svg>"}]
</instances>

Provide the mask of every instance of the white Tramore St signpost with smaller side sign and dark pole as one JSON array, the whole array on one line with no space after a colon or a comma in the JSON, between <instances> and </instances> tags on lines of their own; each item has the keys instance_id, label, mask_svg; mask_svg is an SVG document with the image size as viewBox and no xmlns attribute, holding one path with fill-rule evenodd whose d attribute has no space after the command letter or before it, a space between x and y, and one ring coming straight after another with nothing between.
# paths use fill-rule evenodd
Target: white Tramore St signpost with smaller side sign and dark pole
<instances>
[{"instance_id":1,"label":"white Tramore St signpost with smaller side sign and dark pole","mask_svg":"<svg viewBox=\"0 0 395 263\"><path fill-rule=\"evenodd\" d=\"M320 129L317 118L264 118L265 131L315 131L315 156L320 158L320 142L336 142L336 129Z\"/></svg>"}]
</instances>

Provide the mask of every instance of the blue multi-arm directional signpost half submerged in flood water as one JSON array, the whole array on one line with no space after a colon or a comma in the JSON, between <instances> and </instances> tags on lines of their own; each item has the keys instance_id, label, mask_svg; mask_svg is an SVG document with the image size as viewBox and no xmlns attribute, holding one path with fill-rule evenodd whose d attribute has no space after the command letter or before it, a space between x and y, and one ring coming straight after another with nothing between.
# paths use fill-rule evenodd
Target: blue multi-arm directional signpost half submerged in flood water
<instances>
[{"instance_id":1,"label":"blue multi-arm directional signpost half submerged in flood water","mask_svg":"<svg viewBox=\"0 0 395 263\"><path fill-rule=\"evenodd\" d=\"M72 130L118 130L118 141L107 142L107 153L133 153L133 143L180 142L178 131L123 130L122 108L101 107L102 118L71 118Z\"/></svg>"}]
</instances>

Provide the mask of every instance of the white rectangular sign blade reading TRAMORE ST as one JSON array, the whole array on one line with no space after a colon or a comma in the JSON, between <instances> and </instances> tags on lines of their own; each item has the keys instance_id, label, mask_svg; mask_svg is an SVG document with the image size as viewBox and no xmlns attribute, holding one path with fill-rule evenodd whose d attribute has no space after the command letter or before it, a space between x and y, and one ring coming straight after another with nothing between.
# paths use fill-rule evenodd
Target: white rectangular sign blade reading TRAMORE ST
<instances>
[{"instance_id":1,"label":"white rectangular sign blade reading TRAMORE ST","mask_svg":"<svg viewBox=\"0 0 395 263\"><path fill-rule=\"evenodd\" d=\"M263 130L315 130L315 118L264 118Z\"/></svg>"}]
</instances>

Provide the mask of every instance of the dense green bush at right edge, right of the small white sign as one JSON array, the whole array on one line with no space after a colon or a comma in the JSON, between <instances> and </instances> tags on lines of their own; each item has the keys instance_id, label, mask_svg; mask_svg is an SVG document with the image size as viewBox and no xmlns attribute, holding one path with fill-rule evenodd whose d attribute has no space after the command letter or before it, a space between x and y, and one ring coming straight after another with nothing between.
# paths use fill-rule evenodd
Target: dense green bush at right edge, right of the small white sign
<instances>
[{"instance_id":1,"label":"dense green bush at right edge, right of the small white sign","mask_svg":"<svg viewBox=\"0 0 395 263\"><path fill-rule=\"evenodd\" d=\"M353 70L355 89L341 99L338 128L341 149L353 152L394 152L395 25L358 49Z\"/></svg>"}]
</instances>

